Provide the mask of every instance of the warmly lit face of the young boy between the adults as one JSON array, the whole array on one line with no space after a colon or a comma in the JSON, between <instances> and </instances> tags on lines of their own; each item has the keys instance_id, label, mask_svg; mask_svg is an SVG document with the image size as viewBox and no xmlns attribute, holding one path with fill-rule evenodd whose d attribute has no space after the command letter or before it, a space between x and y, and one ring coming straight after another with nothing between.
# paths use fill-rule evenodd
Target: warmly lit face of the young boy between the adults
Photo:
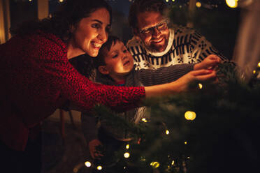
<instances>
[{"instance_id":1,"label":"warmly lit face of the young boy between the adults","mask_svg":"<svg viewBox=\"0 0 260 173\"><path fill-rule=\"evenodd\" d=\"M115 81L124 80L124 76L133 68L133 57L124 43L119 40L111 46L106 57L104 57L104 61L106 63L106 66L104 66L106 74L110 75Z\"/></svg>"}]
</instances>

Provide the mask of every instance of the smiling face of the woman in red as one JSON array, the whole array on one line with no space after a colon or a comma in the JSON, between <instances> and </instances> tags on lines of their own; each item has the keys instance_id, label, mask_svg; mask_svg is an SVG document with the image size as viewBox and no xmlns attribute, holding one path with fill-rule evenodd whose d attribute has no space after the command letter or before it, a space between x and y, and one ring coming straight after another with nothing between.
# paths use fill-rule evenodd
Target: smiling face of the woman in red
<instances>
[{"instance_id":1,"label":"smiling face of the woman in red","mask_svg":"<svg viewBox=\"0 0 260 173\"><path fill-rule=\"evenodd\" d=\"M73 37L68 43L68 59L80 54L96 57L103 43L108 40L110 15L106 8L99 8L88 17L82 18L72 28Z\"/></svg>"}]
</instances>

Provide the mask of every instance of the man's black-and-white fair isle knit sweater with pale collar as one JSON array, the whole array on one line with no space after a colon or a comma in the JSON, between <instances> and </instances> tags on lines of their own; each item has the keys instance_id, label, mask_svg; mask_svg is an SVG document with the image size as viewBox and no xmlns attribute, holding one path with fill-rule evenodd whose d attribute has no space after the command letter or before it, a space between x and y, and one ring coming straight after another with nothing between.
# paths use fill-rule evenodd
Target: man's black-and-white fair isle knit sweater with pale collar
<instances>
[{"instance_id":1,"label":"man's black-and-white fair isle knit sweater with pale collar","mask_svg":"<svg viewBox=\"0 0 260 173\"><path fill-rule=\"evenodd\" d=\"M134 37L129 40L127 47L133 55L136 70L157 69L180 63L198 63L210 54L216 54L222 60L226 60L204 36L187 27L170 29L169 49L166 48L161 54L150 52Z\"/></svg>"}]
</instances>

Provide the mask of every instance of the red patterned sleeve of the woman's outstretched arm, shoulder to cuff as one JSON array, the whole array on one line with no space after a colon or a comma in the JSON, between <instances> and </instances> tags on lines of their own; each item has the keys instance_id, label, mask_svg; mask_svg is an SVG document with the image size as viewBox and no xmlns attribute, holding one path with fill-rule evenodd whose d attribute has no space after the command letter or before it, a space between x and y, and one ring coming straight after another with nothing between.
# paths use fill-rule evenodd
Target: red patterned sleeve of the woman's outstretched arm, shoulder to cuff
<instances>
[{"instance_id":1,"label":"red patterned sleeve of the woman's outstretched arm, shoulder to cuff","mask_svg":"<svg viewBox=\"0 0 260 173\"><path fill-rule=\"evenodd\" d=\"M144 87L115 87L94 84L80 75L68 62L66 49L62 43L45 40L39 58L41 68L48 74L52 85L61 90L61 95L71 100L82 109L91 109L96 104L103 104L114 110L123 111L139 105L145 97ZM60 44L60 45L59 45ZM55 50L55 51L54 51ZM47 58L46 58L47 57Z\"/></svg>"}]
</instances>

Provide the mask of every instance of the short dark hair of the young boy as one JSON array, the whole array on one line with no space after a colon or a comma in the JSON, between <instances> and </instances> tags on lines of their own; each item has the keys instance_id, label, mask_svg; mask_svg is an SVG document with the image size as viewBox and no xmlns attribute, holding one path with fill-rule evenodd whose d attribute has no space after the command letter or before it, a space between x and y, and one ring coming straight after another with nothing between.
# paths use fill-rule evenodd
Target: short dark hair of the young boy
<instances>
[{"instance_id":1,"label":"short dark hair of the young boy","mask_svg":"<svg viewBox=\"0 0 260 173\"><path fill-rule=\"evenodd\" d=\"M111 46L117 43L117 41L121 41L117 36L108 36L108 40L101 46L98 56L94 58L95 68L98 68L99 66L106 66L104 57L110 51Z\"/></svg>"}]
</instances>

